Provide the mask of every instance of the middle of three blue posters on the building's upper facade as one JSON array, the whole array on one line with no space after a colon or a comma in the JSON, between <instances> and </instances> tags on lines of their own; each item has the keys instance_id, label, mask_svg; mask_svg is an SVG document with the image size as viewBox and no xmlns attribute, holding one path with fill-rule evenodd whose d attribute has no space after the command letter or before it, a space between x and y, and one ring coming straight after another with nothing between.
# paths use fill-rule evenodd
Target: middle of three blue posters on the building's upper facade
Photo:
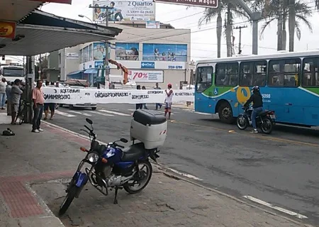
<instances>
[{"instance_id":1,"label":"middle of three blue posters on the building's upper facade","mask_svg":"<svg viewBox=\"0 0 319 227\"><path fill-rule=\"evenodd\" d=\"M138 49L138 43L116 43L116 60L137 61Z\"/></svg>"}]
</instances>

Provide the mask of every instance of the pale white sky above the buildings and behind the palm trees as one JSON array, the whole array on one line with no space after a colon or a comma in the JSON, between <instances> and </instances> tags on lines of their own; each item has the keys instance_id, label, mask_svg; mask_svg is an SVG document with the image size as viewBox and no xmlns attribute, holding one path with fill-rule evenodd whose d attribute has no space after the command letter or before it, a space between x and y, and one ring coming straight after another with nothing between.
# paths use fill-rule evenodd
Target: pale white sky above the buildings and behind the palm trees
<instances>
[{"instance_id":1,"label":"pale white sky above the buildings and behind the palm trees","mask_svg":"<svg viewBox=\"0 0 319 227\"><path fill-rule=\"evenodd\" d=\"M310 23L313 26L313 31L310 32L308 27L301 23L301 40L295 37L295 51L302 50L316 50L319 49L318 37L319 37L319 12L315 11L313 1L314 0L301 0L312 7L313 16L309 18ZM87 18L79 18L79 14L87 16L92 19L92 9L89 9L89 4L92 4L88 0L73 0L72 5L67 4L45 4L42 6L43 11L53 13L57 16L63 16L66 18L72 18L75 20L82 20L89 22ZM162 23L170 23L174 28L187 28L191 29L191 60L206 60L214 58L217 55L217 38L216 38L216 18L208 23L198 27L198 20L203 15L204 8L162 4L156 3L156 21ZM222 16L224 18L224 15ZM235 18L234 26L245 26L247 28L242 29L242 54L250 55L252 53L252 27L247 18ZM259 31L264 21L259 22ZM234 31L235 36L235 52L237 52L237 46L239 42L239 30ZM287 49L288 49L288 28L287 28ZM169 39L169 38L165 38ZM264 31L261 39L259 39L258 54L271 54L276 52L276 22L271 23ZM221 47L222 57L226 57L226 45L225 38L222 38Z\"/></svg>"}]
</instances>

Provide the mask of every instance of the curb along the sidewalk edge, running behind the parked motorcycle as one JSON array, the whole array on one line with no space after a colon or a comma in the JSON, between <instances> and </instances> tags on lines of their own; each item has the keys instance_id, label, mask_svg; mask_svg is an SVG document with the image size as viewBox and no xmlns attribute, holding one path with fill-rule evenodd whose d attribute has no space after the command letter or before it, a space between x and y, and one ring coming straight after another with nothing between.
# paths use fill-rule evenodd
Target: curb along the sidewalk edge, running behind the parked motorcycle
<instances>
[{"instance_id":1,"label":"curb along the sidewalk edge, running behind the parked motorcycle","mask_svg":"<svg viewBox=\"0 0 319 227\"><path fill-rule=\"evenodd\" d=\"M79 136L80 138L84 138L84 139L86 139L86 140L89 140L89 138L86 138L84 135L81 135L81 134L79 134L79 133L75 133L75 132L73 132L73 131L69 131L67 128L63 128L63 127L57 126L57 125L55 125L55 124L53 124L53 123L48 123L48 122L43 122L43 123L46 123L48 126L51 126L51 127L59 128L60 130L65 131L65 132L67 132L67 133L71 133L71 134L73 134L73 135L77 135L77 136ZM102 141L100 141L100 140L96 140L96 141L98 141L99 143L104 143L104 144L105 144L105 142L102 142ZM296 220L294 220L294 219L292 219L292 218L289 218L289 217L287 217L287 216L284 216L284 215L281 215L281 214L279 214L279 213L275 213L275 212L269 211L268 209L264 209L264 208L262 208L262 207L256 206L256 205L254 205L254 204L251 204L250 202L247 202L247 201L245 201L245 200L243 200L243 199L239 199L239 198L237 198L237 197L235 197L235 196L232 196L232 195L230 195L230 194L225 194L224 192L220 192L220 191L218 191L217 189L213 189L213 188L211 188L211 187L203 186L202 184L198 184L197 182L194 182L194 181L192 181L192 180L190 180L190 179L187 179L186 177L181 177L181 175L175 174L174 172L172 172L171 170L169 170L169 169L170 169L169 167L166 167L165 165L159 164L159 163L154 162L154 161L152 161L152 160L151 160L151 162L152 162L152 165L155 165L155 166L158 168L159 172L162 172L162 174L163 174L164 176L166 176L166 177L171 177L171 178L173 178L173 179L182 180L182 181L184 181L184 182L188 182L189 184L194 184L194 185L196 185L197 187L201 187L201 188L206 189L206 190L208 190L208 191L211 191L211 192L214 192L214 193L216 193L216 194L219 194L220 196L225 196L225 197L227 197L227 198L229 198L229 199L233 199L234 201L237 201L237 202L239 202L239 203L241 203L241 204L245 204L245 205L247 205L247 206L251 206L251 207L254 208L254 209L258 209L259 211L263 211L263 212L265 212L265 213L267 213L267 214L272 214L272 215L274 215L274 216L279 216L279 217L285 219L286 221L291 221L292 223L298 224L299 226L303 226L303 227L314 227L314 226L312 226L312 225L310 225L310 224L301 223L300 221L296 221Z\"/></svg>"}]
</instances>

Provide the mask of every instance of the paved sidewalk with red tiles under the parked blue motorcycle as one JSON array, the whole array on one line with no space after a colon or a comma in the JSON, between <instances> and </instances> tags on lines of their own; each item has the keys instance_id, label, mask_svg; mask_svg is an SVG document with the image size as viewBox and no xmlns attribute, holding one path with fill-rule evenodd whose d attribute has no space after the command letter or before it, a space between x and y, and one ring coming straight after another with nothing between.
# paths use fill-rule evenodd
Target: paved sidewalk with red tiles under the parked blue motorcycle
<instances>
[{"instance_id":1,"label":"paved sidewalk with red tiles under the parked blue motorcycle","mask_svg":"<svg viewBox=\"0 0 319 227\"><path fill-rule=\"evenodd\" d=\"M5 118L0 114L0 123ZM88 147L89 141L44 123L43 133L30 133L28 124L0 124L0 132L8 127L16 135L0 135L0 226L62 227L54 214L65 196L67 180L55 179L72 177L84 157L79 147ZM167 177L160 167L154 167L154 171L150 184L140 194L119 192L118 205L112 203L113 192L103 196L88 185L62 216L62 222L83 227L105 227L106 223L108 227L127 223L162 227L306 226L175 175Z\"/></svg>"}]
</instances>

